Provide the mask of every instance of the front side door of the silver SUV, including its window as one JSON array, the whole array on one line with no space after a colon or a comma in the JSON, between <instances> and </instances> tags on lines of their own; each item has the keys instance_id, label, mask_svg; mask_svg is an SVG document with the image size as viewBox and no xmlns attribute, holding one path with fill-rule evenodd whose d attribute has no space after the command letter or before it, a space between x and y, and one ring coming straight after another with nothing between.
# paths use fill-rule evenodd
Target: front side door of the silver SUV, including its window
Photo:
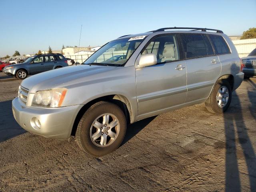
<instances>
[{"instance_id":1,"label":"front side door of the silver SUV, including its window","mask_svg":"<svg viewBox=\"0 0 256 192\"><path fill-rule=\"evenodd\" d=\"M157 64L136 69L139 119L153 116L186 99L186 64L180 60L176 36L154 38L142 54L156 54Z\"/></svg>"}]
</instances>

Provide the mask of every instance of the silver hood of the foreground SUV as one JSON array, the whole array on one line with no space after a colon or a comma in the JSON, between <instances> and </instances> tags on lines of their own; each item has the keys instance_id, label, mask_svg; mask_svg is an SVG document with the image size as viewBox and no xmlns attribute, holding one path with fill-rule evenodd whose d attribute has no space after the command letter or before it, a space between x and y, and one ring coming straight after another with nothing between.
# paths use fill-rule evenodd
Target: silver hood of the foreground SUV
<instances>
[{"instance_id":1,"label":"silver hood of the foreground SUV","mask_svg":"<svg viewBox=\"0 0 256 192\"><path fill-rule=\"evenodd\" d=\"M96 65L68 66L30 76L22 81L21 86L29 89L30 93L52 88L69 88L80 82L102 78L104 73L115 68L117 67Z\"/></svg>"}]
</instances>

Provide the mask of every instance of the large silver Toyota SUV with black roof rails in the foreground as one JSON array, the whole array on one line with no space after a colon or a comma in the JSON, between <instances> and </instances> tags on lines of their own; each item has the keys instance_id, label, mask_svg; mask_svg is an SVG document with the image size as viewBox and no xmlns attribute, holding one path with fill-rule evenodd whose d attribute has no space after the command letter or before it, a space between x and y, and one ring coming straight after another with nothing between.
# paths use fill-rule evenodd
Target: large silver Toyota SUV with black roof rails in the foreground
<instances>
[{"instance_id":1,"label":"large silver Toyota SUV with black roof rails in the foreground","mask_svg":"<svg viewBox=\"0 0 256 192\"><path fill-rule=\"evenodd\" d=\"M23 80L12 109L25 130L75 135L82 149L103 156L120 146L127 124L201 102L210 112L226 111L243 78L222 31L162 28L108 42L82 65Z\"/></svg>"}]
</instances>

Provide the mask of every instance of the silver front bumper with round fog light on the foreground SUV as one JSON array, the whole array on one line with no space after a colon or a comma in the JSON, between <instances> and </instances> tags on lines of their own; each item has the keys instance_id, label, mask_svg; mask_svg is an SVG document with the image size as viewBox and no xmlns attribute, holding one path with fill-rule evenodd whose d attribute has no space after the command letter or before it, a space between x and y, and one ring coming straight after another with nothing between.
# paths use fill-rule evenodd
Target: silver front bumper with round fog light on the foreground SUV
<instances>
[{"instance_id":1,"label":"silver front bumper with round fog light on the foreground SUV","mask_svg":"<svg viewBox=\"0 0 256 192\"><path fill-rule=\"evenodd\" d=\"M61 108L24 107L19 98L12 100L12 112L18 124L28 132L49 138L67 139L82 105ZM33 126L33 118L40 120L41 128Z\"/></svg>"}]
</instances>

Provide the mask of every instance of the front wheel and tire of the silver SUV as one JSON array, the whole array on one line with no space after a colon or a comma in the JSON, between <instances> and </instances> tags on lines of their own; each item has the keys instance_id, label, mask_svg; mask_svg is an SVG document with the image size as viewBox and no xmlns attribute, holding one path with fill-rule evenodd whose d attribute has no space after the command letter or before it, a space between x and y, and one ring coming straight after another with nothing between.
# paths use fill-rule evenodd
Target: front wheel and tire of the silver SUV
<instances>
[{"instance_id":1,"label":"front wheel and tire of the silver SUV","mask_svg":"<svg viewBox=\"0 0 256 192\"><path fill-rule=\"evenodd\" d=\"M106 121L107 126L104 126L105 123L103 116L106 114L110 114L110 116L109 121ZM98 123L100 122L100 124L97 123L98 128L93 126L93 124L96 124L94 123L96 121ZM112 127L112 125L114 125L113 122L117 122L117 125ZM116 134L115 138L113 138L113 133ZM126 117L121 108L113 103L100 101L92 105L84 113L78 124L75 137L78 146L80 146L80 148L85 152L92 156L104 156L116 150L120 146L125 134ZM93 141L94 139L92 136L95 137L95 141ZM103 138L106 138L105 144L102 142L104 141Z\"/></svg>"}]
</instances>

